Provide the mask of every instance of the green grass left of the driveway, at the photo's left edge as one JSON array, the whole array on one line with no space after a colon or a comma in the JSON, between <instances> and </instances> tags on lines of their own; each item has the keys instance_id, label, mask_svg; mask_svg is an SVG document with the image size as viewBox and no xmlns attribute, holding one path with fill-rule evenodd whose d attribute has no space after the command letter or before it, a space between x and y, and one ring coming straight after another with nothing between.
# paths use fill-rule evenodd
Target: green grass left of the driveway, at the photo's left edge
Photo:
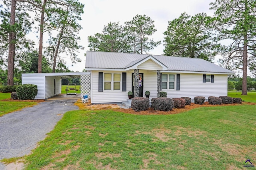
<instances>
[{"instance_id":1,"label":"green grass left of the driveway, at the photo's left edge","mask_svg":"<svg viewBox=\"0 0 256 170\"><path fill-rule=\"evenodd\" d=\"M36 102L7 102L1 101L11 98L10 93L0 93L0 117L7 113L20 110L24 107L34 106Z\"/></svg>"}]
</instances>

